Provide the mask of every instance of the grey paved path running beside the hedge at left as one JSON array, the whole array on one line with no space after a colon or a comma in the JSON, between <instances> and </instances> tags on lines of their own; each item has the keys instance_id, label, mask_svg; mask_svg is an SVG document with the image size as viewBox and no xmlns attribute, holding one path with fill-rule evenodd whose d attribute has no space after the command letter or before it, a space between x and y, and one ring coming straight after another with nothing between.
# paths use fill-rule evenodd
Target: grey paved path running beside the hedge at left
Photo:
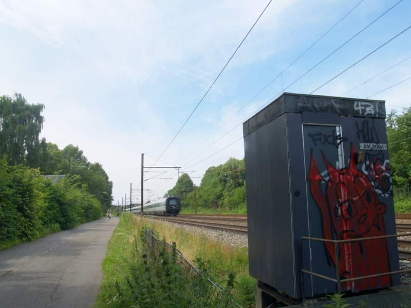
<instances>
[{"instance_id":1,"label":"grey paved path running beside the hedge at left","mask_svg":"<svg viewBox=\"0 0 411 308\"><path fill-rule=\"evenodd\" d=\"M91 307L118 221L104 218L0 251L0 308Z\"/></svg>"}]
</instances>

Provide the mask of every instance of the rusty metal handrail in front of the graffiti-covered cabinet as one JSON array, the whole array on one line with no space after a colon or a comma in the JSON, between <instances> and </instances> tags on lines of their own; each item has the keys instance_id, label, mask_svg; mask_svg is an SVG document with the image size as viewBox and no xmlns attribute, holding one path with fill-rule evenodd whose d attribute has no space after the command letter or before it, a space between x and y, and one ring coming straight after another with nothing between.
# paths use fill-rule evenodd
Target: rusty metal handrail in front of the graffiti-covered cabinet
<instances>
[{"instance_id":1,"label":"rusty metal handrail in front of the graffiti-covered cabinet","mask_svg":"<svg viewBox=\"0 0 411 308\"><path fill-rule=\"evenodd\" d=\"M340 254L339 254L339 249L340 249L339 244L340 243L352 243L352 242L360 242L360 241L375 240L375 239L398 238L398 237L402 237L402 236L411 236L411 233L391 234L391 235L373 236L373 237L348 239L348 240L331 240L331 239L313 238L313 237L308 237L308 236L301 237L300 238L300 264L301 264L302 298L304 299L304 273L337 283L337 292L338 293L341 293L341 283L343 283L343 282L356 281L356 280L360 280L360 279L380 277L380 276L386 276L386 275L411 273L411 269L408 269L406 271L393 271L393 272L372 274L372 275L367 275L367 276L353 277L353 278L348 278L348 279L341 279L341 277L340 277ZM308 271L307 269L304 269L304 264L303 264L303 241L304 240L330 242L330 243L334 244L334 249L335 249L335 274L336 274L337 279L334 279L332 277L328 277L328 276L325 276L325 275L321 275L321 274L318 274L318 273L314 273L314 272Z\"/></svg>"}]
</instances>

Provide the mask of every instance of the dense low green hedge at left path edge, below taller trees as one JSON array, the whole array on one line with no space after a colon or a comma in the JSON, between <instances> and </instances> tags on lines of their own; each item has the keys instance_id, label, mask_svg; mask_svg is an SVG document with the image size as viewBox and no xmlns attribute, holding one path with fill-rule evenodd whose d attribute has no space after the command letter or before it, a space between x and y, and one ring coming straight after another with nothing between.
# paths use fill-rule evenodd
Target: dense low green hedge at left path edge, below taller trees
<instances>
[{"instance_id":1,"label":"dense low green hedge at left path edge, below taller trees","mask_svg":"<svg viewBox=\"0 0 411 308\"><path fill-rule=\"evenodd\" d=\"M0 249L99 219L101 203L71 179L52 184L40 170L0 159Z\"/></svg>"}]
</instances>

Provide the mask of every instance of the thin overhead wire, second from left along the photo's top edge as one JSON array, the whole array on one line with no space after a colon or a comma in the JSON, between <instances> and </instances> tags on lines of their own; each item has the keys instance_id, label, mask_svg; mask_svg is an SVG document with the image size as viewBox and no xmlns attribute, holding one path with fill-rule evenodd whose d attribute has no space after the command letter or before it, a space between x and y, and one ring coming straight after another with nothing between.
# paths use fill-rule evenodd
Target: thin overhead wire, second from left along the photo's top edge
<instances>
[{"instance_id":1,"label":"thin overhead wire, second from left along the photo's top edge","mask_svg":"<svg viewBox=\"0 0 411 308\"><path fill-rule=\"evenodd\" d=\"M263 91L265 91L273 82L275 82L278 79L279 76L282 76L283 73L285 73L292 65L294 65L298 60L300 60L302 56L304 56L312 47L314 47L318 42L320 42L322 40L322 38L324 38L332 29L334 29L338 24L340 24L344 20L345 17L347 17L353 10L355 10L363 2L364 2L364 0L361 0L359 3L357 3L356 6L354 6L352 9L350 9L343 17L341 17L335 24L333 24L326 32L324 32L319 38L317 38L317 40L314 43L312 43L303 53L298 55L293 62L291 62L281 73L279 73L267 85L265 85L262 89L260 89L249 101L247 101L246 104L242 105L233 115L231 115L231 117L228 120L226 120L223 124L221 124L219 127L217 127L217 129L215 129L206 139L204 139L201 143L199 143L197 147L195 147L193 150L189 151L188 156L190 156L190 153L192 153L193 151L196 151L204 142L209 140L218 130L220 130L228 122L230 122L242 109L244 109L248 104L250 104L252 101L254 101L254 99L256 99L259 94L261 94ZM284 88L284 86L283 86L283 88ZM185 156L183 158L183 160L185 160L188 156Z\"/></svg>"}]
</instances>

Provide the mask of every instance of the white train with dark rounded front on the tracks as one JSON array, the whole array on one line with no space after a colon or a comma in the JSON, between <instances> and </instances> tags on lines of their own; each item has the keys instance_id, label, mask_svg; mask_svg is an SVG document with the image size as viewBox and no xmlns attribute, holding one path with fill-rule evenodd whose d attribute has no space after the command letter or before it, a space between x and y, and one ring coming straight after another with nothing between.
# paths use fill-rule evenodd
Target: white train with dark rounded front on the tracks
<instances>
[{"instance_id":1,"label":"white train with dark rounded front on the tracks","mask_svg":"<svg viewBox=\"0 0 411 308\"><path fill-rule=\"evenodd\" d=\"M144 214L177 216L180 213L180 198L170 196L144 204ZM132 213L140 214L141 205L132 207Z\"/></svg>"}]
</instances>

